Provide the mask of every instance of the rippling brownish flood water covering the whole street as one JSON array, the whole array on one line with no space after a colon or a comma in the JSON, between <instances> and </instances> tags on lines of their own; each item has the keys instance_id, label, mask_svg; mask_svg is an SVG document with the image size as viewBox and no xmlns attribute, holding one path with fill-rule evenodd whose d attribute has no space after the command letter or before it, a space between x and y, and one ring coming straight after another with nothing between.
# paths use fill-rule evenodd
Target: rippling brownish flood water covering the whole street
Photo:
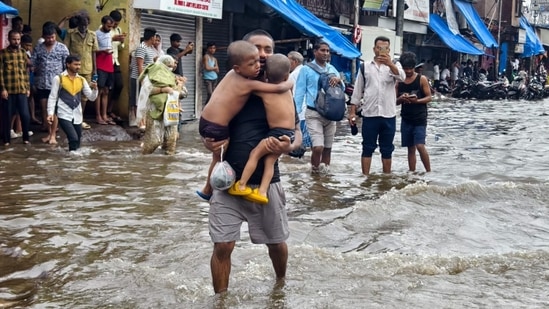
<instances>
[{"instance_id":1,"label":"rippling brownish flood water covering the whole street","mask_svg":"<svg viewBox=\"0 0 549 309\"><path fill-rule=\"evenodd\" d=\"M429 111L428 174L407 171L397 132L393 174L376 153L362 176L345 122L329 175L310 174L309 153L282 158L286 282L244 225L223 297L196 124L171 157L138 140L76 154L16 140L0 150L0 308L549 307L549 100Z\"/></svg>"}]
</instances>

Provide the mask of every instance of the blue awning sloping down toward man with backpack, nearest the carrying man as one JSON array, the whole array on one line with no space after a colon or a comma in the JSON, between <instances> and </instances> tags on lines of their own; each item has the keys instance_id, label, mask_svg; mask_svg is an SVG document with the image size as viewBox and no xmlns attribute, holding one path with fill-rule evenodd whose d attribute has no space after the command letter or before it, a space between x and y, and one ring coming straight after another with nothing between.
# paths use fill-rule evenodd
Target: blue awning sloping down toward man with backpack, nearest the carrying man
<instances>
[{"instance_id":1,"label":"blue awning sloping down toward man with backpack, nearest the carrying man","mask_svg":"<svg viewBox=\"0 0 549 309\"><path fill-rule=\"evenodd\" d=\"M277 11L280 17L304 34L322 38L322 41L330 45L332 53L349 59L360 57L360 51L343 34L318 19L295 0L261 0L261 2Z\"/></svg>"}]
</instances>

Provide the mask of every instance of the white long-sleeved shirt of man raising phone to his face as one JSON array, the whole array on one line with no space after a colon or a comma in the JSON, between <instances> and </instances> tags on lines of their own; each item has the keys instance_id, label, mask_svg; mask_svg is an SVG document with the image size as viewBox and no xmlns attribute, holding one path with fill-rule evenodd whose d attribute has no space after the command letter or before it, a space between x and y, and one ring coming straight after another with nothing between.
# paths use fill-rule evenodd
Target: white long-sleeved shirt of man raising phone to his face
<instances>
[{"instance_id":1,"label":"white long-sleeved shirt of man raising phone to his face","mask_svg":"<svg viewBox=\"0 0 549 309\"><path fill-rule=\"evenodd\" d=\"M351 104L362 105L362 116L393 118L396 116L396 90L397 81L404 81L406 74L397 62L398 74L393 74L391 69L375 61L364 63L364 76L358 70L355 88L351 96ZM366 80L364 80L366 77Z\"/></svg>"}]
</instances>

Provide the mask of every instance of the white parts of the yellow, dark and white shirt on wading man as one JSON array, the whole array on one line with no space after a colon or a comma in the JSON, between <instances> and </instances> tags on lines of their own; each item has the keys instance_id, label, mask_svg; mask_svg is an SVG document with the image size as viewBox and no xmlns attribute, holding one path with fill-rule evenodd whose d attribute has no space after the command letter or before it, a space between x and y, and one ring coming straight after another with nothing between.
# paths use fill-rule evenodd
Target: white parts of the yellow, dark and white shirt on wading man
<instances>
[{"instance_id":1,"label":"white parts of the yellow, dark and white shirt on wading man","mask_svg":"<svg viewBox=\"0 0 549 309\"><path fill-rule=\"evenodd\" d=\"M61 73L63 76L67 76L67 71L64 71ZM79 78L79 75L76 74L75 78ZM98 90L95 88L94 90L91 90L90 86L88 85L88 82L85 78L83 78L83 88L82 88L82 95L85 95L88 100L93 101L97 98ZM65 102L62 100L58 100L59 96L59 75L55 76L53 80L51 81L51 91L50 96L48 97L48 115L53 115L55 112L55 103L57 102L57 117L60 119L64 119L67 121L72 121L74 124L81 124L83 121L82 117L82 104L79 104L75 109L72 109L70 106L68 106Z\"/></svg>"}]
</instances>

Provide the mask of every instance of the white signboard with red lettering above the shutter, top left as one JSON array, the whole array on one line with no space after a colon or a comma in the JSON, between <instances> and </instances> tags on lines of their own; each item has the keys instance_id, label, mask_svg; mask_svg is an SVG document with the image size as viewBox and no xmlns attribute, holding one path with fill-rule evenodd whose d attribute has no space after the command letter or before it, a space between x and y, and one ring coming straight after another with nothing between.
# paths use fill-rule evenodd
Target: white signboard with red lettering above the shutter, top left
<instances>
[{"instance_id":1,"label":"white signboard with red lettering above the shutter, top left","mask_svg":"<svg viewBox=\"0 0 549 309\"><path fill-rule=\"evenodd\" d=\"M135 0L134 8L205 18L223 18L223 0Z\"/></svg>"}]
</instances>

